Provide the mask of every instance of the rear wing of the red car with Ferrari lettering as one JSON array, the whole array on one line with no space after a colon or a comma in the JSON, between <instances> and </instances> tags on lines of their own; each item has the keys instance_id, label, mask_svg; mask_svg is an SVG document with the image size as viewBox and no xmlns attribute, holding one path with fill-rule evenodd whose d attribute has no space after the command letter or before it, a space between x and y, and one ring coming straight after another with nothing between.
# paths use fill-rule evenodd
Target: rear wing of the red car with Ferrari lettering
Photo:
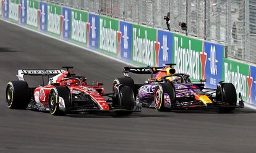
<instances>
[{"instance_id":1,"label":"rear wing of the red car with Ferrari lettering","mask_svg":"<svg viewBox=\"0 0 256 153\"><path fill-rule=\"evenodd\" d=\"M26 69L26 70L18 70L18 79L20 81L25 81L24 75L33 75L33 76L50 76L50 75L58 75L59 73L64 72L61 69Z\"/></svg>"}]
</instances>

